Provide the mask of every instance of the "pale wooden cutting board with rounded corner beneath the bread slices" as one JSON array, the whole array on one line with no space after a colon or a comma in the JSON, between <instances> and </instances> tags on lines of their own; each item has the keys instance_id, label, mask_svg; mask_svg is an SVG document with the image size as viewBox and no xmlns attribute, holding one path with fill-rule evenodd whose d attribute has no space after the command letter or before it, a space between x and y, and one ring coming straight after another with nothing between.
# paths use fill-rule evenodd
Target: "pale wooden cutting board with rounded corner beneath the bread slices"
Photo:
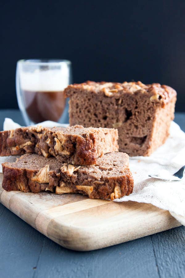
<instances>
[{"instance_id":1,"label":"pale wooden cutting board with rounded corner beneath the bread slices","mask_svg":"<svg viewBox=\"0 0 185 278\"><path fill-rule=\"evenodd\" d=\"M99 249L181 225L168 211L151 204L116 203L80 194L6 192L2 177L0 174L1 203L69 249Z\"/></svg>"}]
</instances>

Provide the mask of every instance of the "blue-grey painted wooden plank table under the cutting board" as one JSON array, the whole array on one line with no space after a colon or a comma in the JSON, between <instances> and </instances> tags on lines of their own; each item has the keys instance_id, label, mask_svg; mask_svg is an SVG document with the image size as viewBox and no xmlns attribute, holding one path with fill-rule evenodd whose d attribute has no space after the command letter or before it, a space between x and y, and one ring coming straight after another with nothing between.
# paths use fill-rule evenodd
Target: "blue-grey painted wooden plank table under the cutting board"
<instances>
[{"instance_id":1,"label":"blue-grey painted wooden plank table under the cutting board","mask_svg":"<svg viewBox=\"0 0 185 278\"><path fill-rule=\"evenodd\" d=\"M20 124L18 110L0 110ZM185 113L175 121L185 131ZM142 225L142 223L141 223ZM90 252L67 250L0 204L0 277L185 277L185 227Z\"/></svg>"}]
</instances>

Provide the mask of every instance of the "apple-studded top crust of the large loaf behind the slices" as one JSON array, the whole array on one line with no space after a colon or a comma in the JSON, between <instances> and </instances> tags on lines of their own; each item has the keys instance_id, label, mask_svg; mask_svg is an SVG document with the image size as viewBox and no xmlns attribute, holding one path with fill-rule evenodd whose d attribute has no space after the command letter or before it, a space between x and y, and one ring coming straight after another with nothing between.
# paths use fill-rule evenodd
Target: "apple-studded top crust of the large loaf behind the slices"
<instances>
[{"instance_id":1,"label":"apple-studded top crust of the large loaf behind the slices","mask_svg":"<svg viewBox=\"0 0 185 278\"><path fill-rule=\"evenodd\" d=\"M66 97L72 96L76 91L92 91L96 94L103 92L105 96L120 97L125 93L135 94L142 93L147 94L150 97L151 101L159 102L161 106L164 106L176 97L176 91L167 86L160 85L159 83L153 84L143 84L142 82L93 82L87 81L81 84L72 84L69 85L65 90L64 94Z\"/></svg>"}]
</instances>

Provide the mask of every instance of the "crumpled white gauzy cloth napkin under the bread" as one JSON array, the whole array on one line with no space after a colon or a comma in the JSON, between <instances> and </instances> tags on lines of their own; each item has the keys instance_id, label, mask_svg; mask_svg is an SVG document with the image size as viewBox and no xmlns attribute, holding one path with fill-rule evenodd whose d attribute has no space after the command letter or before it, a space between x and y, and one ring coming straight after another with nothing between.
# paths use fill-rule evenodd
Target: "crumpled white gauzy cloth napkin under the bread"
<instances>
[{"instance_id":1,"label":"crumpled white gauzy cloth napkin under the bread","mask_svg":"<svg viewBox=\"0 0 185 278\"><path fill-rule=\"evenodd\" d=\"M52 127L68 124L58 124L47 121L37 125ZM4 130L14 129L19 124L6 118ZM15 161L14 157L2 157L0 163ZM185 133L175 122L171 123L170 137L166 143L159 147L150 157L130 158L130 170L134 177L134 191L115 202L136 201L150 203L159 208L168 210L180 223L185 225L185 177L181 181L165 181L150 178L150 174L158 174L167 170L171 174L185 165ZM0 170L2 172L2 169Z\"/></svg>"}]
</instances>

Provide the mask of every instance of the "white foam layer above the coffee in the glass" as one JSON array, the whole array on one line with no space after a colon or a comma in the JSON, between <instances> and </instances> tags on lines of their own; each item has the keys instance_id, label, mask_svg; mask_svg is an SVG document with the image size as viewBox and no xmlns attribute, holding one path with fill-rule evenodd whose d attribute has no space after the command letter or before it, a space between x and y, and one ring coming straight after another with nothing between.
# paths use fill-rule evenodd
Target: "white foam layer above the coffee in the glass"
<instances>
[{"instance_id":1,"label":"white foam layer above the coffee in the glass","mask_svg":"<svg viewBox=\"0 0 185 278\"><path fill-rule=\"evenodd\" d=\"M20 86L26 91L63 91L69 84L69 70L63 65L59 70L20 71Z\"/></svg>"}]
</instances>

